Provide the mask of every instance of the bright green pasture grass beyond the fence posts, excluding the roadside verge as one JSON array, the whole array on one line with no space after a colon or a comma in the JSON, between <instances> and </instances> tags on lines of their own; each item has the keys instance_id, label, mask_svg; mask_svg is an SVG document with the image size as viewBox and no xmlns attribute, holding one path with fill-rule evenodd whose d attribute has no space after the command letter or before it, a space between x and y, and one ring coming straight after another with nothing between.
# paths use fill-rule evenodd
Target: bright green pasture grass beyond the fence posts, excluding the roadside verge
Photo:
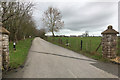
<instances>
[{"instance_id":1,"label":"bright green pasture grass beyond the fence posts, excluding the roadside verge","mask_svg":"<svg viewBox=\"0 0 120 80\"><path fill-rule=\"evenodd\" d=\"M53 41L53 37L48 37L48 41ZM55 37L54 42L58 43L58 39L62 39L63 45L66 44L66 40L70 43L70 49L80 51L81 40L83 41L82 51L94 52L101 42L101 37ZM66 46L67 47L67 46ZM97 51L101 53L101 47Z\"/></svg>"}]
</instances>

